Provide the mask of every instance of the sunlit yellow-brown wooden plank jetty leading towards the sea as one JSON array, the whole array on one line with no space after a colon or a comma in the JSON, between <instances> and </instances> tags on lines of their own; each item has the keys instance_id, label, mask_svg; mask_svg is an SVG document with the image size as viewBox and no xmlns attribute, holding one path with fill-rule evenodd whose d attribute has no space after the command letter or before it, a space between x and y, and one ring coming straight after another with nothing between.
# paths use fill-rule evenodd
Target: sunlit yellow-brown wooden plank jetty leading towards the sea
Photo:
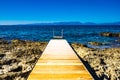
<instances>
[{"instance_id":1,"label":"sunlit yellow-brown wooden plank jetty leading towards the sea","mask_svg":"<svg viewBox=\"0 0 120 80\"><path fill-rule=\"evenodd\" d=\"M93 80L68 42L50 40L28 80Z\"/></svg>"}]
</instances>

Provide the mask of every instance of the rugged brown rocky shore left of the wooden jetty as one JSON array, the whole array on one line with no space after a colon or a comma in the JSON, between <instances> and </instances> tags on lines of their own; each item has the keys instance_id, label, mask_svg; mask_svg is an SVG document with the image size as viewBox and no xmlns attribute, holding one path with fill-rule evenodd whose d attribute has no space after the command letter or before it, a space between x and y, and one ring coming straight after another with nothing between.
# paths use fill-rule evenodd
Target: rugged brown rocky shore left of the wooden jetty
<instances>
[{"instance_id":1,"label":"rugged brown rocky shore left of the wooden jetty","mask_svg":"<svg viewBox=\"0 0 120 80\"><path fill-rule=\"evenodd\" d=\"M46 42L0 40L0 80L26 80Z\"/></svg>"}]
</instances>

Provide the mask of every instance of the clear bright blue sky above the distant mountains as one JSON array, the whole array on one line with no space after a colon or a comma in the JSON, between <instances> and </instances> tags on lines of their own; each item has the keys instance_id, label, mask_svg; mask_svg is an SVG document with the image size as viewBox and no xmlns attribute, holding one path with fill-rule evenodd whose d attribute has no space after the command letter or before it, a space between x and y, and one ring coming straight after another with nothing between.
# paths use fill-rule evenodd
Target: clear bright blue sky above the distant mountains
<instances>
[{"instance_id":1,"label":"clear bright blue sky above the distant mountains","mask_svg":"<svg viewBox=\"0 0 120 80\"><path fill-rule=\"evenodd\" d=\"M120 21L120 0L0 0L0 23Z\"/></svg>"}]
</instances>

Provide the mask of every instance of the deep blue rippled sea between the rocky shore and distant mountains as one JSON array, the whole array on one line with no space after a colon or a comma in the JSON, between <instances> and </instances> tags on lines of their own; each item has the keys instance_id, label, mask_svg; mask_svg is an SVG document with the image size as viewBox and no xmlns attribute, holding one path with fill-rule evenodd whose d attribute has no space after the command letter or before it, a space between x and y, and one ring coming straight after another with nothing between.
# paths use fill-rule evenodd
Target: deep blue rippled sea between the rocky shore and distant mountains
<instances>
[{"instance_id":1,"label":"deep blue rippled sea between the rocky shore and distant mountains","mask_svg":"<svg viewBox=\"0 0 120 80\"><path fill-rule=\"evenodd\" d=\"M78 42L93 48L120 47L117 37L103 37L101 32L120 32L120 25L9 25L0 26L0 38L5 40L21 39L32 41L49 41L64 31L68 42ZM102 42L104 46L92 46L88 42Z\"/></svg>"}]
</instances>

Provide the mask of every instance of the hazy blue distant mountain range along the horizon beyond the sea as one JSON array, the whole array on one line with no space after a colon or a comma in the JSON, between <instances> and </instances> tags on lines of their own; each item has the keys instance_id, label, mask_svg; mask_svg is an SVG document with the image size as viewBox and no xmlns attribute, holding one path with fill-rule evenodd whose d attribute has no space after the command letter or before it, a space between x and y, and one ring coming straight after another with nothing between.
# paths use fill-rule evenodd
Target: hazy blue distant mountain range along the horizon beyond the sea
<instances>
[{"instance_id":1,"label":"hazy blue distant mountain range along the horizon beyond the sea","mask_svg":"<svg viewBox=\"0 0 120 80\"><path fill-rule=\"evenodd\" d=\"M120 22L112 22L112 23L50 22L50 23L30 23L30 24L18 24L18 25L120 25Z\"/></svg>"}]
</instances>

